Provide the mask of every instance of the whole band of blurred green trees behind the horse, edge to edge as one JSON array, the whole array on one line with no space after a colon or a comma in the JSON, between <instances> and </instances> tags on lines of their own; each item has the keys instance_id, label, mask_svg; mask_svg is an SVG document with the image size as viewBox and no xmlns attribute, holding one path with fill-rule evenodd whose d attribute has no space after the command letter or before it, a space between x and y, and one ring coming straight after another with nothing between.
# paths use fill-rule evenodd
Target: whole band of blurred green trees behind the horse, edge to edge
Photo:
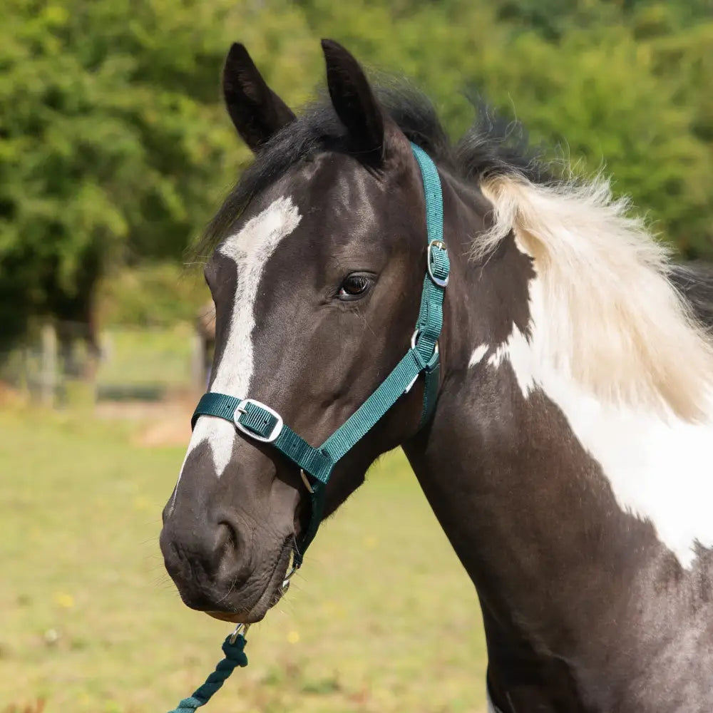
<instances>
[{"instance_id":1,"label":"whole band of blurred green trees behind the horse, edge to edge","mask_svg":"<svg viewBox=\"0 0 713 713\"><path fill-rule=\"evenodd\" d=\"M230 41L294 105L320 36L414 78L454 136L478 89L713 256L710 0L6 0L0 339L83 319L108 267L178 261L249 158L220 106Z\"/></svg>"}]
</instances>

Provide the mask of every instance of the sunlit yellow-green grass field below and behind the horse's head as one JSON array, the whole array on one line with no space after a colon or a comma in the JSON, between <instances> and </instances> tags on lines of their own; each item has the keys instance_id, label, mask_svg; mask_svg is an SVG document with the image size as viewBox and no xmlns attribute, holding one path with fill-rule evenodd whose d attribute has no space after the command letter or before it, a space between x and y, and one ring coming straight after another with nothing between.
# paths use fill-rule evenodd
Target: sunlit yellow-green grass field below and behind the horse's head
<instances>
[{"instance_id":1,"label":"sunlit yellow-green grass field below and behind the horse's head","mask_svg":"<svg viewBox=\"0 0 713 713\"><path fill-rule=\"evenodd\" d=\"M160 713L230 625L184 607L158 550L183 458L140 424L0 411L0 711ZM250 666L206 713L481 712L476 597L400 454L320 530Z\"/></svg>"}]
</instances>

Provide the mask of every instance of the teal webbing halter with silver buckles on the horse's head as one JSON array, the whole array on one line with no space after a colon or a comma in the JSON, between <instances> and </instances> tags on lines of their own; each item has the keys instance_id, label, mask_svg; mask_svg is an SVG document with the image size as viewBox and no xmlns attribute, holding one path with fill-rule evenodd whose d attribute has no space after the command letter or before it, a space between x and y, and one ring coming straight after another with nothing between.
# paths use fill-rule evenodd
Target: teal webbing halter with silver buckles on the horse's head
<instances>
[{"instance_id":1,"label":"teal webbing halter with silver buckles on the horse's head","mask_svg":"<svg viewBox=\"0 0 713 713\"><path fill-rule=\"evenodd\" d=\"M277 411L255 399L238 399L236 396L209 392L201 396L191 419L192 427L199 416L217 416L231 421L245 436L262 443L270 443L302 469L302 478L312 494L312 514L307 530L294 552L294 568L299 568L302 564L304 552L317 534L324 508L324 488L339 459L364 438L399 396L411 389L421 373L426 381L419 428L426 424L436 405L440 372L438 337L443 327L443 294L448 284L451 265L446 244L443 242L443 194L438 171L423 149L413 143L411 149L421 168L426 197L426 277L421 292L419 319L411 338L411 349L399 364L396 364L391 374L386 376L364 404L361 404L319 448L310 446L284 424Z\"/></svg>"}]
</instances>

